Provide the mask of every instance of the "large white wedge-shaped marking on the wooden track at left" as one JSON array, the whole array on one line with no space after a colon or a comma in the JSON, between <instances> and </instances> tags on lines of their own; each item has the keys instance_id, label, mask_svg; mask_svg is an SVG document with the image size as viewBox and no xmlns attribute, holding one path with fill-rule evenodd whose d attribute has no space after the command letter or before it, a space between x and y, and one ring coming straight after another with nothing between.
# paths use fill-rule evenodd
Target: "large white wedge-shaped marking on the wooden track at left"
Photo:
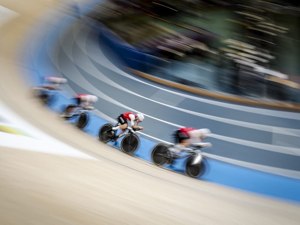
<instances>
[{"instance_id":1,"label":"large white wedge-shaped marking on the wooden track at left","mask_svg":"<svg viewBox=\"0 0 300 225\"><path fill-rule=\"evenodd\" d=\"M30 137L0 132L0 146L22 150L49 153L75 158L98 160L44 133L26 122L0 100L0 116L9 124L26 132Z\"/></svg>"}]
</instances>

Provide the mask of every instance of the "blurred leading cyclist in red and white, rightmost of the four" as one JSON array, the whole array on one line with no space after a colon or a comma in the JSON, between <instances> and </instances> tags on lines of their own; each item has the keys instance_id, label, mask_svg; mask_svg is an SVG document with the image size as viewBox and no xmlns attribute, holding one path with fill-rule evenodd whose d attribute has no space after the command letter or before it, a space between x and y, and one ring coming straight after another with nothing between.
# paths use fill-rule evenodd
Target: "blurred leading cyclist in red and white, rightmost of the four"
<instances>
[{"instance_id":1,"label":"blurred leading cyclist in red and white, rightmost of the four","mask_svg":"<svg viewBox=\"0 0 300 225\"><path fill-rule=\"evenodd\" d=\"M211 146L211 143L201 142L203 139L207 138L210 133L211 131L207 128L196 129L184 127L176 129L174 132L175 145L170 148L170 151L178 154L183 151L191 150L190 148L187 148L190 145Z\"/></svg>"}]
</instances>

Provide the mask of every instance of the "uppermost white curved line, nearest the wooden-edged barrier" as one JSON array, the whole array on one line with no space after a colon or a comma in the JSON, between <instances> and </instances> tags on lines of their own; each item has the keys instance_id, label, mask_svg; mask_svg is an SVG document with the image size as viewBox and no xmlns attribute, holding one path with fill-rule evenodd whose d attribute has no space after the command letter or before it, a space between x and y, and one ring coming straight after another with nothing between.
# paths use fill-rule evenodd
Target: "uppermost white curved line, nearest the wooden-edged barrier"
<instances>
[{"instance_id":1,"label":"uppermost white curved line, nearest the wooden-edged barrier","mask_svg":"<svg viewBox=\"0 0 300 225\"><path fill-rule=\"evenodd\" d=\"M75 39L75 42L76 42L76 39ZM83 52L87 53L86 45L83 45L83 43L80 43L80 42L77 42L77 44L82 49ZM100 48L98 48L97 51L98 51L97 55L89 54L88 56L90 58L92 58L94 61L96 61L97 63L101 64L103 67L108 68L108 69L112 70L113 72L119 73L120 75L123 75L124 77L130 78L132 80L135 80L137 82L140 82L140 83L143 83L146 85L149 85L151 87L154 87L154 88L157 88L160 90L164 90L166 92L173 93L176 95L180 95L185 98L190 98L190 99L197 100L197 101L200 101L203 103L217 105L217 106L224 107L224 108L230 108L230 109L235 109L235 110L244 111L244 112L248 112L248 113L256 113L256 114L262 114L262 115L273 116L273 117L300 120L300 113L285 112L285 111L278 111L278 110L271 110L271 109L262 109L262 108L255 108L255 107L249 107L249 106L241 106L241 105L236 105L236 104L231 104L231 103L223 103L223 102L219 102L219 101L209 100L209 99L205 99L205 98L199 98L199 97L195 97L195 96L191 96L191 95L187 95L187 94L183 94L183 93L174 92L174 91L171 91L171 90L168 90L165 88L157 87L155 85L143 82L143 81L139 80L138 78L135 78L132 75L124 72L123 70L116 67L113 63L111 63L111 61L109 61L108 58L106 58L106 56L103 54L103 52ZM100 58L101 58L101 60L100 60Z\"/></svg>"}]
</instances>

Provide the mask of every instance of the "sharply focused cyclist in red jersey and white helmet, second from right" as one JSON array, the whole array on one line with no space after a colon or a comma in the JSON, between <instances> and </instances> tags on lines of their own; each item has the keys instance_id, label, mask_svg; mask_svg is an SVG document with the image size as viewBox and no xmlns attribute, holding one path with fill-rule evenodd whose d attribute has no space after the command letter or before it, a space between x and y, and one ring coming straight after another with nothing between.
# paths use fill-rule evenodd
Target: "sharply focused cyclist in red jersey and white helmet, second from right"
<instances>
[{"instance_id":1,"label":"sharply focused cyclist in red jersey and white helmet, second from right","mask_svg":"<svg viewBox=\"0 0 300 225\"><path fill-rule=\"evenodd\" d=\"M145 119L144 115L142 113L137 113L136 115L134 113L128 112L118 115L118 122L121 124L117 127L113 127L112 130L118 130L122 129L121 133L119 135L115 136L114 141L117 140L128 128L127 121L130 121L131 127L133 129L141 129L143 130L143 127L138 126L138 123L143 122ZM114 131L112 131L112 134L114 134Z\"/></svg>"}]
</instances>

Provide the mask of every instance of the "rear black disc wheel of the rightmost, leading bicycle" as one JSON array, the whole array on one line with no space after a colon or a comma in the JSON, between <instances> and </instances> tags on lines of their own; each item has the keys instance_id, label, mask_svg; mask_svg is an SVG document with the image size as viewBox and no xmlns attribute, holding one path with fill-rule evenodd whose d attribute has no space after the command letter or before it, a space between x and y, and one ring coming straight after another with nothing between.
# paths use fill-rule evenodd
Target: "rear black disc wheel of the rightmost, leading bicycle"
<instances>
[{"instance_id":1,"label":"rear black disc wheel of the rightmost, leading bicycle","mask_svg":"<svg viewBox=\"0 0 300 225\"><path fill-rule=\"evenodd\" d=\"M156 166L163 166L166 163L171 163L172 157L168 148L168 144L158 144L151 152L151 160Z\"/></svg>"}]
</instances>

